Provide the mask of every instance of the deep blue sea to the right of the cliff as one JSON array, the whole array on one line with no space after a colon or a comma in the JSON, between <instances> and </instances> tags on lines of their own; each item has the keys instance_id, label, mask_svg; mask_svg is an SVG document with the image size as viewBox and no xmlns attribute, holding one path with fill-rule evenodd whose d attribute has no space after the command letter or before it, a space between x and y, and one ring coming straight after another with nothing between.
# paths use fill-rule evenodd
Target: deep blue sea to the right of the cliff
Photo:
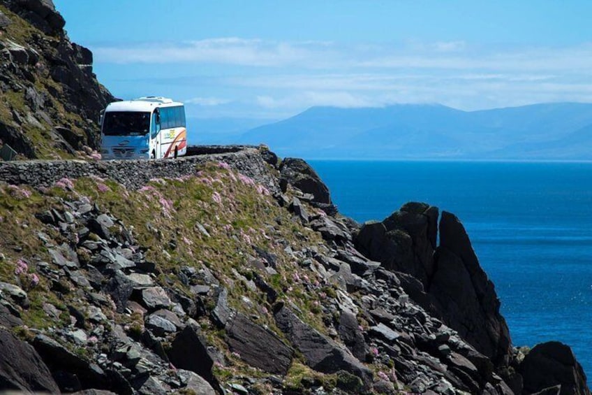
<instances>
[{"instance_id":1,"label":"deep blue sea to the right of the cliff","mask_svg":"<svg viewBox=\"0 0 592 395\"><path fill-rule=\"evenodd\" d=\"M559 340L592 378L592 163L310 161L344 215L424 201L463 222L514 345Z\"/></svg>"}]
</instances>

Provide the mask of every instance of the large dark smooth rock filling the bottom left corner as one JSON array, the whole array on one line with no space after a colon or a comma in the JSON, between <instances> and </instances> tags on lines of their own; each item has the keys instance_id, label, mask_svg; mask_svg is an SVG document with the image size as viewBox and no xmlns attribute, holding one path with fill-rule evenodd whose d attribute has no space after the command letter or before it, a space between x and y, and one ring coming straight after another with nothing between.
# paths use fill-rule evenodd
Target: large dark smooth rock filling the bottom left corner
<instances>
[{"instance_id":1,"label":"large dark smooth rock filling the bottom left corner","mask_svg":"<svg viewBox=\"0 0 592 395\"><path fill-rule=\"evenodd\" d=\"M0 329L0 348L1 389L59 393L59 387L50 370L31 345L9 331Z\"/></svg>"}]
</instances>

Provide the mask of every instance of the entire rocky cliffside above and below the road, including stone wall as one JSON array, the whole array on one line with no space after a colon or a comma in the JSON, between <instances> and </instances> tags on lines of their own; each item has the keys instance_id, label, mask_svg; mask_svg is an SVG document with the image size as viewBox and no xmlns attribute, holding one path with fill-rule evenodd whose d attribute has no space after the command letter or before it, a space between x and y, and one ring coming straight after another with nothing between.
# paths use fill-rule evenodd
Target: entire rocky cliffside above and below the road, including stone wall
<instances>
[{"instance_id":1,"label":"entire rocky cliffside above and below the road, including stone wall","mask_svg":"<svg viewBox=\"0 0 592 395\"><path fill-rule=\"evenodd\" d=\"M63 27L50 0L0 5L23 157L84 156L111 99ZM568 346L512 347L451 213L360 226L301 159L191 153L0 163L0 391L590 393Z\"/></svg>"}]
</instances>

